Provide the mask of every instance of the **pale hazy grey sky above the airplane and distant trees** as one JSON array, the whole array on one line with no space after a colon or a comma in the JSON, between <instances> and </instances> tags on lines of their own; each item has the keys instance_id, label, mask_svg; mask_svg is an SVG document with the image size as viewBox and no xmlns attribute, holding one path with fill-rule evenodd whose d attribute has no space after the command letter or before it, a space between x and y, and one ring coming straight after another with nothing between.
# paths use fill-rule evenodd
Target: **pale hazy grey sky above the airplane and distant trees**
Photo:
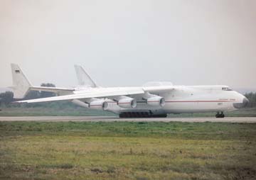
<instances>
[{"instance_id":1,"label":"pale hazy grey sky above the airplane and distant trees","mask_svg":"<svg viewBox=\"0 0 256 180\"><path fill-rule=\"evenodd\" d=\"M35 85L146 81L256 88L255 0L0 0L0 86L10 63Z\"/></svg>"}]
</instances>

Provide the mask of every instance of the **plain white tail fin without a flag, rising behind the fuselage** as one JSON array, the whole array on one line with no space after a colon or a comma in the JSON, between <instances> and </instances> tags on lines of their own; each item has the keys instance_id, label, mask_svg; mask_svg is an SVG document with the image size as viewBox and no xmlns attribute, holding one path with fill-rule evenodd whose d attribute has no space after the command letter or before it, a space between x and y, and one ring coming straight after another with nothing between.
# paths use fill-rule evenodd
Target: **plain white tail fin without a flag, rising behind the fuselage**
<instances>
[{"instance_id":1,"label":"plain white tail fin without a flag, rising behind the fuselage","mask_svg":"<svg viewBox=\"0 0 256 180\"><path fill-rule=\"evenodd\" d=\"M95 81L85 72L81 66L75 65L75 72L78 77L78 85L80 86L90 86L90 87L97 87Z\"/></svg>"}]
</instances>

